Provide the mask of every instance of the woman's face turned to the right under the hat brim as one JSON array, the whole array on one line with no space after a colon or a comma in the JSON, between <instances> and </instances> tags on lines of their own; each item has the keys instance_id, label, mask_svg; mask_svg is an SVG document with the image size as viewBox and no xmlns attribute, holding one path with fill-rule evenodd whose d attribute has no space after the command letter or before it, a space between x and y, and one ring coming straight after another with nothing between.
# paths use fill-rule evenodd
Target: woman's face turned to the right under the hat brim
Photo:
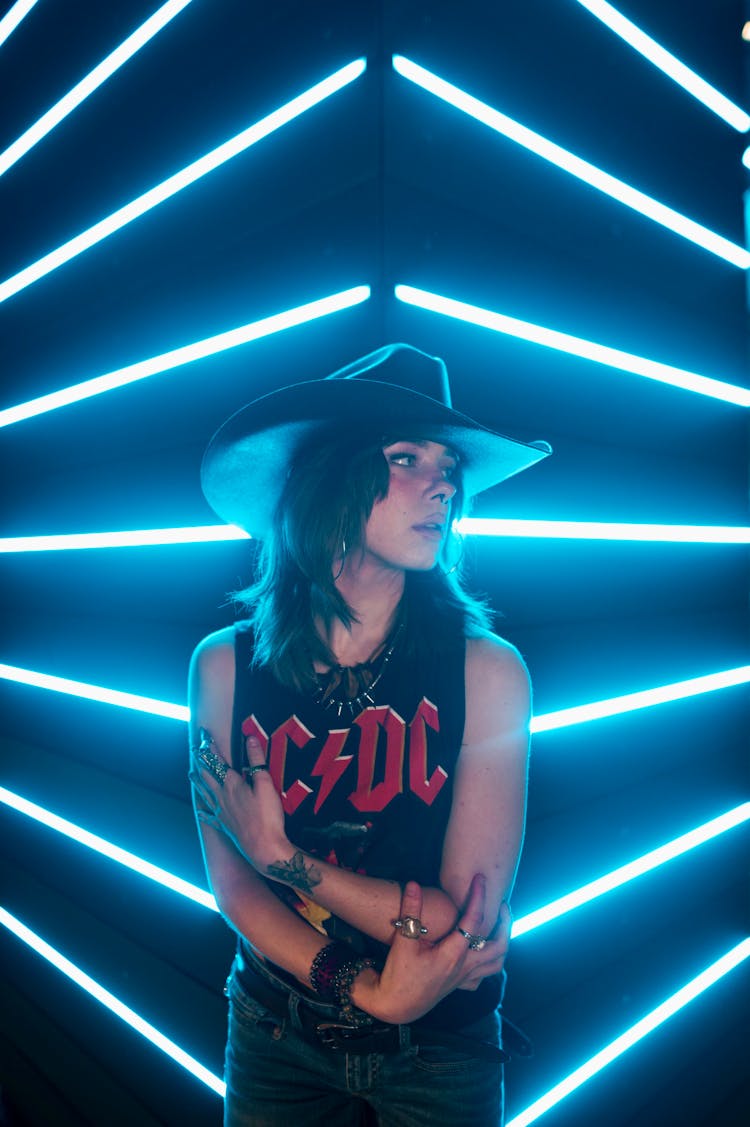
<instances>
[{"instance_id":1,"label":"woman's face turned to the right under the hat brim","mask_svg":"<svg viewBox=\"0 0 750 1127\"><path fill-rule=\"evenodd\" d=\"M450 525L458 455L438 442L394 442L383 447L388 492L372 506L363 556L387 568L427 571L435 566Z\"/></svg>"}]
</instances>

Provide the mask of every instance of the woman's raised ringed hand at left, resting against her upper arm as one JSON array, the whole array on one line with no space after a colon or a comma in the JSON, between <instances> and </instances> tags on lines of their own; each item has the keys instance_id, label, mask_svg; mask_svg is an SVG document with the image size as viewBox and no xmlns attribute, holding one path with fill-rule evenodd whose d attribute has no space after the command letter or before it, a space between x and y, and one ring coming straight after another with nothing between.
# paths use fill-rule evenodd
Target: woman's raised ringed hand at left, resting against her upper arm
<instances>
[{"instance_id":1,"label":"woman's raised ringed hand at left, resting against her upper arm","mask_svg":"<svg viewBox=\"0 0 750 1127\"><path fill-rule=\"evenodd\" d=\"M201 822L230 837L258 872L265 873L270 864L293 851L284 831L281 798L257 739L247 740L249 766L241 774L217 752L204 729L191 756L189 779Z\"/></svg>"}]
</instances>

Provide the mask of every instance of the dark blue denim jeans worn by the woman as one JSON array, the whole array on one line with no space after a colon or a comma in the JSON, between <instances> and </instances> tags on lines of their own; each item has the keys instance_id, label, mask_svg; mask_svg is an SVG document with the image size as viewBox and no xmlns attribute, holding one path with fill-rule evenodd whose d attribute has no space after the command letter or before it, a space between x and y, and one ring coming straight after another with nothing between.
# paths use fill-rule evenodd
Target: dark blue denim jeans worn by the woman
<instances>
[{"instance_id":1,"label":"dark blue denim jeans worn by the woman","mask_svg":"<svg viewBox=\"0 0 750 1127\"><path fill-rule=\"evenodd\" d=\"M470 1042L413 1045L409 1027L402 1026L399 1051L347 1053L300 1036L301 999L293 992L283 1020L256 1002L235 973L228 996L224 1127L502 1125L503 1066L475 1056ZM321 1021L336 1013L323 1004L316 1009ZM498 1015L458 1032L498 1045Z\"/></svg>"}]
</instances>

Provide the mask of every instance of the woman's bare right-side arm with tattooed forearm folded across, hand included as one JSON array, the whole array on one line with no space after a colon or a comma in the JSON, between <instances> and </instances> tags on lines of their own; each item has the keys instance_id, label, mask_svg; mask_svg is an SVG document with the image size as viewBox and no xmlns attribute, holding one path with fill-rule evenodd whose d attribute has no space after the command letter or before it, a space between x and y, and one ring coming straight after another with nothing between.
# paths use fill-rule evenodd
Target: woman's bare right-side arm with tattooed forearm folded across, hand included
<instances>
[{"instance_id":1,"label":"woman's bare right-side arm with tattooed forearm folded across, hand included","mask_svg":"<svg viewBox=\"0 0 750 1127\"><path fill-rule=\"evenodd\" d=\"M232 663L233 653L229 655ZM204 660L214 663L211 649ZM210 675L210 674L209 674ZM486 869L487 934L510 893L523 834L529 682L517 651L492 636L473 640L466 660L467 720L442 857L441 888L424 889L423 923L431 939L447 934L466 903L471 877ZM248 740L252 764L263 763ZM223 828L258 872L295 888L316 904L385 943L394 940L400 887L327 864L286 837L279 796L267 773L249 788L233 772L218 788Z\"/></svg>"}]
</instances>

